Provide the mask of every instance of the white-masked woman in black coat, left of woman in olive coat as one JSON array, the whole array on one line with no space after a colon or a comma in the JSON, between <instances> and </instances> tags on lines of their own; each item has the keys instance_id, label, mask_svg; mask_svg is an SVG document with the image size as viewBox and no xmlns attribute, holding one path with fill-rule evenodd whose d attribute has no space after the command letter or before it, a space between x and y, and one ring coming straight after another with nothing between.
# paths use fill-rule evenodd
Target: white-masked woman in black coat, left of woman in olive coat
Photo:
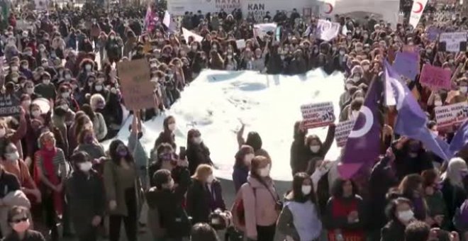
<instances>
[{"instance_id":1,"label":"white-masked woman in black coat, left of woman in olive coat","mask_svg":"<svg viewBox=\"0 0 468 241\"><path fill-rule=\"evenodd\" d=\"M79 241L97 240L97 227L106 209L104 183L92 168L87 152L70 157L74 172L67 179L65 190L74 231Z\"/></svg>"}]
</instances>

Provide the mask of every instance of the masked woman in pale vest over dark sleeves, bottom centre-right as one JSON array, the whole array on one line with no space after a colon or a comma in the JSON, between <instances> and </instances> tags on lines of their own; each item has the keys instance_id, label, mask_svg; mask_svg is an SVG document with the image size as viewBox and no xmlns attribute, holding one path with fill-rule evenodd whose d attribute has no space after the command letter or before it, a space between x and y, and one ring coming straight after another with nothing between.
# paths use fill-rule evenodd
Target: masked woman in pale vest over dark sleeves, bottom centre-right
<instances>
[{"instance_id":1,"label":"masked woman in pale vest over dark sleeves, bottom centre-right","mask_svg":"<svg viewBox=\"0 0 468 241\"><path fill-rule=\"evenodd\" d=\"M286 195L277 230L286 240L318 240L322 222L312 180L306 172L294 174L292 191Z\"/></svg>"}]
</instances>

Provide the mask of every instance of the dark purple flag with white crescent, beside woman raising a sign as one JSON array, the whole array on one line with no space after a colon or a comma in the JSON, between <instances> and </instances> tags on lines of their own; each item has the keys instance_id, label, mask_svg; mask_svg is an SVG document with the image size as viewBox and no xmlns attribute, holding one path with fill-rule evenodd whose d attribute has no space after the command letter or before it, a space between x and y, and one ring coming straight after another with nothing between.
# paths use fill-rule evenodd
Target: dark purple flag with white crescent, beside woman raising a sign
<instances>
[{"instance_id":1,"label":"dark purple flag with white crescent, beside woman raising a sign","mask_svg":"<svg viewBox=\"0 0 468 241\"><path fill-rule=\"evenodd\" d=\"M364 105L347 138L338 172L343 179L350 179L364 164L371 164L380 154L379 96L377 82L372 82Z\"/></svg>"}]
</instances>

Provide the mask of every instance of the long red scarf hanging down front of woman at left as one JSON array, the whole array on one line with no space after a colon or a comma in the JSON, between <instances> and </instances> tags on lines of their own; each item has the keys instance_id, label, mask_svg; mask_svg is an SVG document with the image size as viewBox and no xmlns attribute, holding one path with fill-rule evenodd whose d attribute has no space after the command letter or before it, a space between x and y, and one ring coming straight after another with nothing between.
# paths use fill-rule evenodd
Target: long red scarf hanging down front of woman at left
<instances>
[{"instance_id":1,"label":"long red scarf hanging down front of woman at left","mask_svg":"<svg viewBox=\"0 0 468 241\"><path fill-rule=\"evenodd\" d=\"M60 184L60 179L57 176L53 162L55 155L57 155L57 148L54 147L52 150L46 150L43 148L42 150L39 150L39 155L43 159L43 169L47 173L50 183L52 185ZM62 192L52 191L52 198L57 215L62 215Z\"/></svg>"}]
</instances>

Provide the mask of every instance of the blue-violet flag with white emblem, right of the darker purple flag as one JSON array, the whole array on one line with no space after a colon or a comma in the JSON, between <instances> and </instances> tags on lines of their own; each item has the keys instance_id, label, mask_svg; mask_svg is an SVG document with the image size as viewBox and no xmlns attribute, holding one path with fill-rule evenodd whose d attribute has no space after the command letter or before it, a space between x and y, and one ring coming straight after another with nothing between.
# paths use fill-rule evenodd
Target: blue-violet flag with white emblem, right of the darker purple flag
<instances>
[{"instance_id":1,"label":"blue-violet flag with white emblem, right of the darker purple flag","mask_svg":"<svg viewBox=\"0 0 468 241\"><path fill-rule=\"evenodd\" d=\"M396 118L395 133L406 135L408 138L423 142L426 150L433 152L442 159L448 159L440 142L426 127L427 116L420 108L413 94L406 84L399 80L399 74L395 72L389 62L384 62L385 67L385 93L387 103L393 99L398 111Z\"/></svg>"}]
</instances>

